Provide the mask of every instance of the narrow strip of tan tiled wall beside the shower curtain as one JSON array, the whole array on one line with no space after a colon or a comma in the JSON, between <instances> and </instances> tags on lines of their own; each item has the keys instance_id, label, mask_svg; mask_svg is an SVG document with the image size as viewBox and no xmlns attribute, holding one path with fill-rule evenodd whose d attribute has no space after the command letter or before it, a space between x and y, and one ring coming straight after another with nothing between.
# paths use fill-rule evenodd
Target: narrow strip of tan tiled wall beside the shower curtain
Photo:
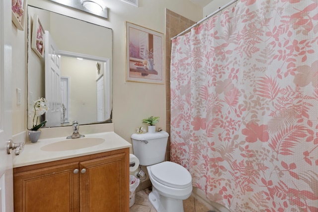
<instances>
[{"instance_id":1,"label":"narrow strip of tan tiled wall beside the shower curtain","mask_svg":"<svg viewBox=\"0 0 318 212\"><path fill-rule=\"evenodd\" d=\"M170 59L171 59L171 38L195 24L194 21L183 17L169 9L165 9L165 94L166 113L165 129L170 135ZM166 160L170 160L170 137L166 149Z\"/></svg>"}]
</instances>

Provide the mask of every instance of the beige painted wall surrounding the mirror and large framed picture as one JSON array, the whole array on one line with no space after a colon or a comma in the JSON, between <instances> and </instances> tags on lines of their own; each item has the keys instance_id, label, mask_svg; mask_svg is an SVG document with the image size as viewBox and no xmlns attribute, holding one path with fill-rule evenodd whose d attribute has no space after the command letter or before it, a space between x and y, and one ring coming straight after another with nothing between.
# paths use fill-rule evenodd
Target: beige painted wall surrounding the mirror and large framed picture
<instances>
[{"instance_id":1,"label":"beige painted wall surrounding the mirror and large framed picture","mask_svg":"<svg viewBox=\"0 0 318 212\"><path fill-rule=\"evenodd\" d=\"M96 18L48 0L28 0L28 4L59 13L72 13L72 16L88 22L113 29L113 123L115 132L131 142L131 134L140 126L141 120L149 116L159 116L157 124L165 130L166 90L164 84L138 83L126 81L125 21L164 34L165 8L179 13L191 20L202 18L202 8L188 0L139 0L139 7L121 0L108 0L109 18ZM26 21L27 22L27 21ZM26 27L25 27L26 28ZM24 31L12 24L12 132L17 134L26 130L26 46ZM16 88L21 89L21 105L16 105ZM34 97L37 98L37 97Z\"/></svg>"}]
</instances>

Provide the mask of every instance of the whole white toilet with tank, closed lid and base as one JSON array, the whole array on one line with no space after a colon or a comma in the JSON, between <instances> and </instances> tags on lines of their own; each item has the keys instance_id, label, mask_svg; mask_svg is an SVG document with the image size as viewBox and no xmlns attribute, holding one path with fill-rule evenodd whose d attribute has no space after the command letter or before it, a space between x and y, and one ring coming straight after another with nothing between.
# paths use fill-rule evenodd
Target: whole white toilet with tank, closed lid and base
<instances>
[{"instance_id":1,"label":"whole white toilet with tank, closed lid and base","mask_svg":"<svg viewBox=\"0 0 318 212\"><path fill-rule=\"evenodd\" d=\"M133 134L134 155L147 166L152 183L149 201L157 212L184 212L183 200L192 193L192 178L183 166L164 161L169 134L164 131Z\"/></svg>"}]
</instances>

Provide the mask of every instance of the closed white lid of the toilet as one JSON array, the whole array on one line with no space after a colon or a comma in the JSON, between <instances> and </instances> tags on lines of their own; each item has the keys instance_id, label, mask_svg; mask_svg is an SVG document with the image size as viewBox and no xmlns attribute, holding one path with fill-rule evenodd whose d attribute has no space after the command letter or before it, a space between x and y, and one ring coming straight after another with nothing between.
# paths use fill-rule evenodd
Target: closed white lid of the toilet
<instances>
[{"instance_id":1,"label":"closed white lid of the toilet","mask_svg":"<svg viewBox=\"0 0 318 212\"><path fill-rule=\"evenodd\" d=\"M188 170L170 161L153 165L151 174L159 183L172 188L183 189L192 184L192 178Z\"/></svg>"}]
</instances>

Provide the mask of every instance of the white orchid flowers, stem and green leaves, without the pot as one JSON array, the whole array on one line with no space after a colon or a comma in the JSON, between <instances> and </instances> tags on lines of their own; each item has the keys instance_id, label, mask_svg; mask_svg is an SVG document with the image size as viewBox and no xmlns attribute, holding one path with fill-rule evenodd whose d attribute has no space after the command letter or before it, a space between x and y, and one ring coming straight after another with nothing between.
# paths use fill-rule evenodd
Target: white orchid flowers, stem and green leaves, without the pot
<instances>
[{"instance_id":1,"label":"white orchid flowers, stem and green leaves, without the pot","mask_svg":"<svg viewBox=\"0 0 318 212\"><path fill-rule=\"evenodd\" d=\"M33 122L32 122L33 127L31 129L32 131L37 131L39 128L41 128L41 127L43 127L43 125L45 125L47 120L41 122L40 124L38 124L38 120L39 120L39 116L43 115L48 110L49 110L49 107L47 104L47 100L45 98L41 97L34 102L34 106L32 108L32 113L34 113Z\"/></svg>"}]
</instances>

